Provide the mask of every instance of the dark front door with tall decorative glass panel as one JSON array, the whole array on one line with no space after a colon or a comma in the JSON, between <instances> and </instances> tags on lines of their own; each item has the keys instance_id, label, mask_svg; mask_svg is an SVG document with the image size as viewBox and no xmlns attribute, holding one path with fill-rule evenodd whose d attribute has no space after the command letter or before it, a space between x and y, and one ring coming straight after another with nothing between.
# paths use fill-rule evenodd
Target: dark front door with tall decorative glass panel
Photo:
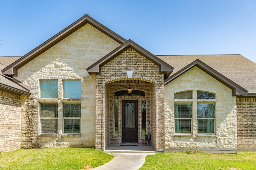
<instances>
[{"instance_id":1,"label":"dark front door with tall decorative glass panel","mask_svg":"<svg viewBox=\"0 0 256 170\"><path fill-rule=\"evenodd\" d=\"M122 142L138 143L138 101L122 101Z\"/></svg>"}]
</instances>

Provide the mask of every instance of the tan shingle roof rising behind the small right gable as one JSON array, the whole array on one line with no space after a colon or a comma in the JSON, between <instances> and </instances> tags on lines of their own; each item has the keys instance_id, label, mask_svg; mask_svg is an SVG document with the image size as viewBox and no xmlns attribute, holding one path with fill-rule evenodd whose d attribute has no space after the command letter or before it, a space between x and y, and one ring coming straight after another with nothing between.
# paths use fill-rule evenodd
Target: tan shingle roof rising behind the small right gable
<instances>
[{"instance_id":1,"label":"tan shingle roof rising behind the small right gable","mask_svg":"<svg viewBox=\"0 0 256 170\"><path fill-rule=\"evenodd\" d=\"M156 55L156 57L174 67L170 76L199 59L248 90L248 93L256 93L256 63L242 55Z\"/></svg>"}]
</instances>

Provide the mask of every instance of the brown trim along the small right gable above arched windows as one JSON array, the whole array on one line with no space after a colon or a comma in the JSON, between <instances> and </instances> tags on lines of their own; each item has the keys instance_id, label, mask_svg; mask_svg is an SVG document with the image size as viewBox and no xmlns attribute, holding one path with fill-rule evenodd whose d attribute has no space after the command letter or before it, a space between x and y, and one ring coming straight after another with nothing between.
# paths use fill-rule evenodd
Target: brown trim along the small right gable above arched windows
<instances>
[{"instance_id":1,"label":"brown trim along the small right gable above arched windows","mask_svg":"<svg viewBox=\"0 0 256 170\"><path fill-rule=\"evenodd\" d=\"M208 66L207 64L203 63L199 59L193 61L192 63L188 64L187 66L185 66L184 68L182 68L181 70L176 72L175 74L168 77L165 80L164 84L166 85L166 84L172 82L172 80L178 78L180 75L184 74L185 72L187 72L194 66L200 68L202 71L206 72L207 74L209 74L210 76L212 76L213 78L215 78L216 80L220 81L222 84L224 84L225 86L230 88L232 90L232 96L246 95L248 93L248 91L246 89L242 88L241 86L239 86L232 80L226 78L225 76L223 76L222 74L220 74L219 72L217 72L216 70L214 70L213 68Z\"/></svg>"}]
</instances>

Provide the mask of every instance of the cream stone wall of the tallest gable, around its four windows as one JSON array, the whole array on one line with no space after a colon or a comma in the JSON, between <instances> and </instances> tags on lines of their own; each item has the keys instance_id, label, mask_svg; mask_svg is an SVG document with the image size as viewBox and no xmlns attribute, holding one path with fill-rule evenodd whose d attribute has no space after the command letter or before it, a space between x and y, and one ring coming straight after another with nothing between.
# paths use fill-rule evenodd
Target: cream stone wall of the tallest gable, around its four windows
<instances>
[{"instance_id":1,"label":"cream stone wall of the tallest gable, around its four windows","mask_svg":"<svg viewBox=\"0 0 256 170\"><path fill-rule=\"evenodd\" d=\"M120 44L86 24L18 70L20 82L31 88L22 99L21 146L95 146L96 76L86 68ZM40 99L40 80L58 80L58 99ZM81 80L81 100L63 99L62 81ZM81 102L81 134L62 133L62 102ZM58 102L58 134L39 134L40 102Z\"/></svg>"}]
</instances>

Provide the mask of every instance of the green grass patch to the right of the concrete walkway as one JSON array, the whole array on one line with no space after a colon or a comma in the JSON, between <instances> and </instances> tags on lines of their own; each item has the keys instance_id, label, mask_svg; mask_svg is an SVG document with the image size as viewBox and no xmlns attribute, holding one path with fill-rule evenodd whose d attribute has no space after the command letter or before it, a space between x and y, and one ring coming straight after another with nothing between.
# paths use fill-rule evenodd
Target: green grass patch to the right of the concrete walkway
<instances>
[{"instance_id":1,"label":"green grass patch to the right of the concrete walkway","mask_svg":"<svg viewBox=\"0 0 256 170\"><path fill-rule=\"evenodd\" d=\"M169 152L146 156L140 170L255 170L256 152L208 154Z\"/></svg>"}]
</instances>

